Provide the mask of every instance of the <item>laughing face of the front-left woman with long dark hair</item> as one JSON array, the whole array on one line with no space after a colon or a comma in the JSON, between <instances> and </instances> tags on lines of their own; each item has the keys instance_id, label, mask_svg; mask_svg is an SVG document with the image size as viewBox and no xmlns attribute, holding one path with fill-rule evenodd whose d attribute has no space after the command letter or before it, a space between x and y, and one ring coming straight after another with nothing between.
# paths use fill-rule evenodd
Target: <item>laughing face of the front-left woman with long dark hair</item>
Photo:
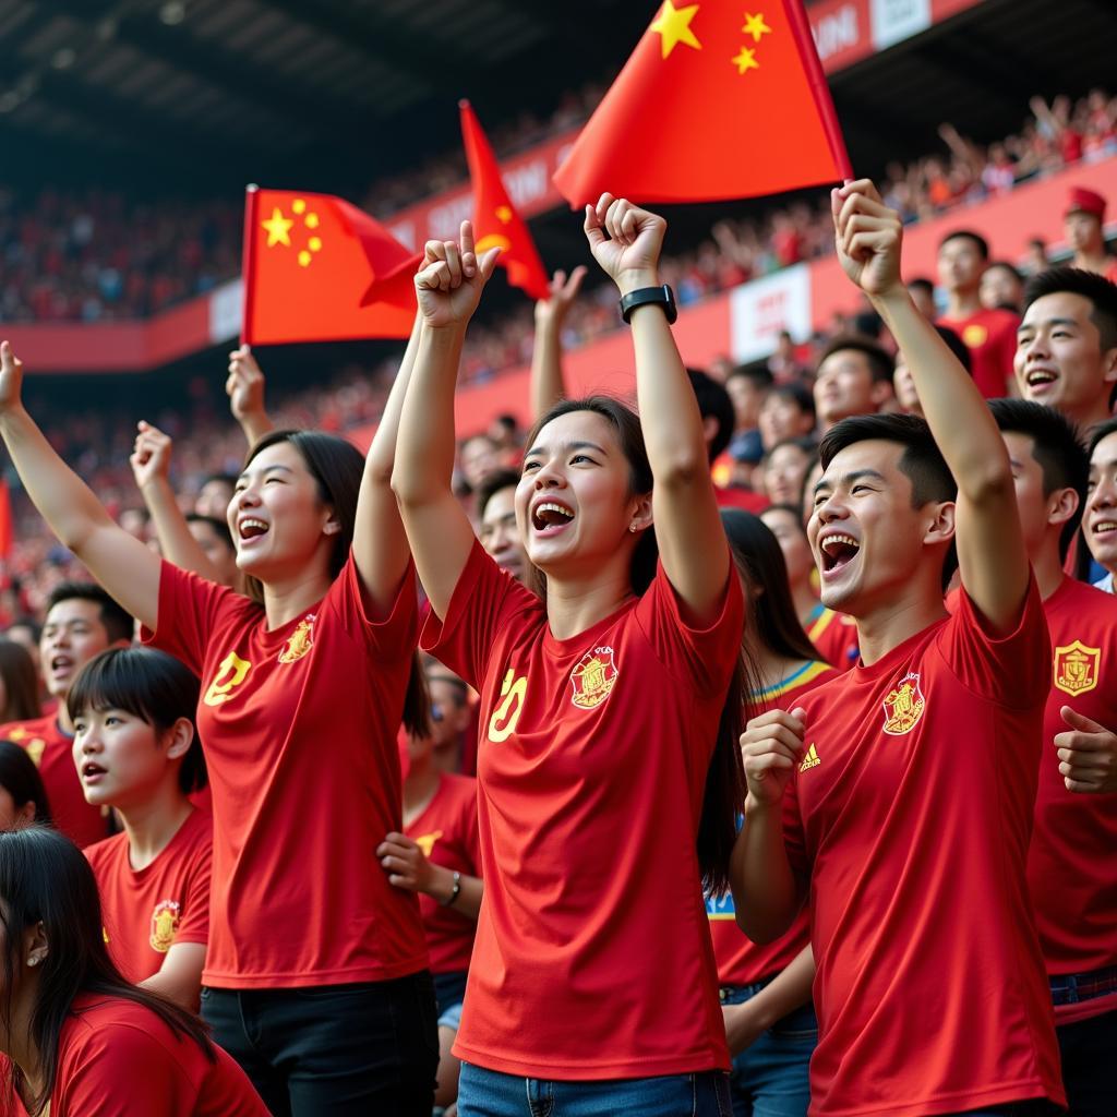
<instances>
[{"instance_id":1,"label":"laughing face of the front-left woman with long dark hair","mask_svg":"<svg viewBox=\"0 0 1117 1117\"><path fill-rule=\"evenodd\" d=\"M290 577L324 554L340 525L323 504L318 485L290 442L266 447L237 479L229 504L237 565L262 582Z\"/></svg>"}]
</instances>

